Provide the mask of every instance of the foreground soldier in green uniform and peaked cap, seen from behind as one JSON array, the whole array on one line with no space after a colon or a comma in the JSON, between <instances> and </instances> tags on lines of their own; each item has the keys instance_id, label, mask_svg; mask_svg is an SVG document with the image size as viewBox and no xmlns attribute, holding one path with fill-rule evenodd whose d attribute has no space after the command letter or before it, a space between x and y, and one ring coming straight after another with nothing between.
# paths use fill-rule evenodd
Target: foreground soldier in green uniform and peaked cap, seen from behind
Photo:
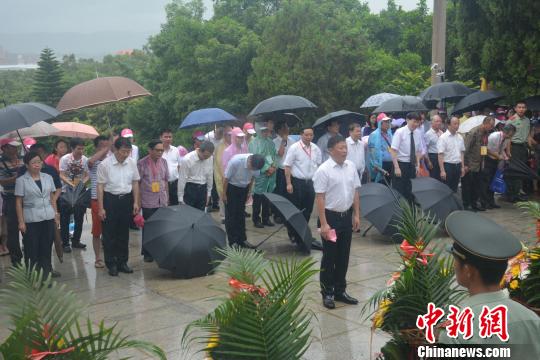
<instances>
[{"instance_id":1,"label":"foreground soldier in green uniform and peaked cap, seen from behind","mask_svg":"<svg viewBox=\"0 0 540 360\"><path fill-rule=\"evenodd\" d=\"M442 344L509 345L512 359L540 359L540 317L520 303L511 300L500 289L508 259L521 250L519 240L495 222L469 211L456 211L446 219L446 230L453 238L450 252L454 255L457 282L467 288L469 297L460 309L470 307L474 313L473 336L450 338L443 330ZM507 310L508 341L496 335L482 338L479 319L484 306L490 309L504 305Z\"/></svg>"}]
</instances>

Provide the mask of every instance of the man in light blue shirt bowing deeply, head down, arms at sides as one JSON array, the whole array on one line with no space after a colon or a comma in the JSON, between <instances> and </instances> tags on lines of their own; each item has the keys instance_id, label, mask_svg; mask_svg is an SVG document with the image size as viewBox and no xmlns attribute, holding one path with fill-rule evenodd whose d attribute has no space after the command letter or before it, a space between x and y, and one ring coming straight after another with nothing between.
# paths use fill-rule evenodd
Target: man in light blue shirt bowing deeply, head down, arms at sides
<instances>
[{"instance_id":1,"label":"man in light blue shirt bowing deeply, head down, arms at sides","mask_svg":"<svg viewBox=\"0 0 540 360\"><path fill-rule=\"evenodd\" d=\"M229 245L252 248L246 238L246 200L253 178L266 166L260 154L238 154L227 164L223 176L225 229Z\"/></svg>"}]
</instances>

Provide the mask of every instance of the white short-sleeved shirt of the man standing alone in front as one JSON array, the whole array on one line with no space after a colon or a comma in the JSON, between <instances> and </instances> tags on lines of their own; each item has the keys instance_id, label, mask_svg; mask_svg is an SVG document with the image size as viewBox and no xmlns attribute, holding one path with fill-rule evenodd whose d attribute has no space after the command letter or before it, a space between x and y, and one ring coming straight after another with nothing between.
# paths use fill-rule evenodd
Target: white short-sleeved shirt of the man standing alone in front
<instances>
[{"instance_id":1,"label":"white short-sleeved shirt of the man standing alone in front","mask_svg":"<svg viewBox=\"0 0 540 360\"><path fill-rule=\"evenodd\" d=\"M322 163L313 177L315 193L325 194L324 207L331 211L349 210L360 186L358 171L350 160L338 165L330 158Z\"/></svg>"}]
</instances>

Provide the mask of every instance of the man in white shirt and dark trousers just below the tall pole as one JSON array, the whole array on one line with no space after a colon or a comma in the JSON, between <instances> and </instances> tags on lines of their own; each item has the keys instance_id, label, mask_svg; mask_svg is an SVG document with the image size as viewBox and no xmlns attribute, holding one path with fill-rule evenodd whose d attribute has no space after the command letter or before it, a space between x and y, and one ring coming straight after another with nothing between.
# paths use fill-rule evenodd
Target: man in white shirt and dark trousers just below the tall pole
<instances>
[{"instance_id":1,"label":"man in white shirt and dark trousers just below the tall pole","mask_svg":"<svg viewBox=\"0 0 540 360\"><path fill-rule=\"evenodd\" d=\"M465 142L457 130L459 118L452 116L448 130L441 135L437 143L438 164L441 169L440 179L453 192L457 192L459 179L465 175Z\"/></svg>"}]
</instances>

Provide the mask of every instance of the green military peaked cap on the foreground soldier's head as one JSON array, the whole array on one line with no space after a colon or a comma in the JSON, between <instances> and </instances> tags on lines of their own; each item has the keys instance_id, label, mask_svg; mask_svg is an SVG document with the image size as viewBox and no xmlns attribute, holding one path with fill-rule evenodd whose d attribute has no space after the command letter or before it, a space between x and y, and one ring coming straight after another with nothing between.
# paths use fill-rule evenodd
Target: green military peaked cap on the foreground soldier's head
<instances>
[{"instance_id":1,"label":"green military peaked cap on the foreground soldier's head","mask_svg":"<svg viewBox=\"0 0 540 360\"><path fill-rule=\"evenodd\" d=\"M473 255L484 260L501 261L521 251L521 243L508 230L471 211L451 213L446 218L445 226L458 245L451 252L462 259Z\"/></svg>"}]
</instances>

